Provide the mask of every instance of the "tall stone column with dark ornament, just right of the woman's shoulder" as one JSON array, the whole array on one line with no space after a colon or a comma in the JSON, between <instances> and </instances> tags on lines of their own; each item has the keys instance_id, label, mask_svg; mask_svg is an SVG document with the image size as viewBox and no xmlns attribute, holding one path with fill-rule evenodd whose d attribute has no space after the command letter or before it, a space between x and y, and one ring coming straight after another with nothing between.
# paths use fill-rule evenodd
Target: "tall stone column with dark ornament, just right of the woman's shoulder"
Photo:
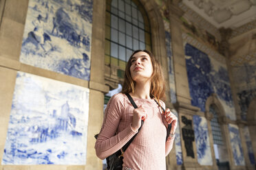
<instances>
[{"instance_id":1,"label":"tall stone column with dark ornament, just right of the woman's shoulder","mask_svg":"<svg viewBox=\"0 0 256 170\"><path fill-rule=\"evenodd\" d=\"M176 89L176 98L177 103L174 105L175 109L179 113L179 123L180 123L180 140L182 145L182 158L183 165L182 169L201 169L201 166L198 164L197 150L195 147L195 141L185 141L186 137L182 136L182 130L186 129L186 123L182 123L182 117L186 117L191 121L192 130L193 130L193 115L200 110L195 106L191 106L191 96L189 93L189 82L186 72L186 60L184 58L184 47L182 41L182 22L180 17L184 12L178 7L180 1L168 1L167 4L169 9L169 21L170 21L170 30L171 30L171 45L173 53L173 70L175 76L175 89ZM190 143L190 144L189 144ZM188 149L188 145L191 145L191 150ZM192 153L187 153L193 152Z\"/></svg>"}]
</instances>

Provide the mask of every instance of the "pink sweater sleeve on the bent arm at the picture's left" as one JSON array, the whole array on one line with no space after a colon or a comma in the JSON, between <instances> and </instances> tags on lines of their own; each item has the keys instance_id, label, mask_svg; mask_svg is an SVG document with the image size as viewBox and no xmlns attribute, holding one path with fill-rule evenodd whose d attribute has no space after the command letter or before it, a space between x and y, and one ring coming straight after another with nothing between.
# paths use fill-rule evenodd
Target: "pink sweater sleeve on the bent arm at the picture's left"
<instances>
[{"instance_id":1,"label":"pink sweater sleeve on the bent arm at the picture's left","mask_svg":"<svg viewBox=\"0 0 256 170\"><path fill-rule=\"evenodd\" d=\"M137 133L129 125L116 134L124 110L124 96L119 93L111 97L105 109L103 125L95 143L98 158L105 159L107 156L114 154Z\"/></svg>"}]
</instances>

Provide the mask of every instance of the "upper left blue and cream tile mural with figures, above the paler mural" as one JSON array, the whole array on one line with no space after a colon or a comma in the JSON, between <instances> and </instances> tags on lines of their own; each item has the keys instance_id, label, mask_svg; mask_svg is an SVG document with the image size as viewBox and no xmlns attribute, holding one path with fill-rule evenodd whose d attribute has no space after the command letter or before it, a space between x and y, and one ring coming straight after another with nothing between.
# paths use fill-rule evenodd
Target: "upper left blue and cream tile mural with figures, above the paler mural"
<instances>
[{"instance_id":1,"label":"upper left blue and cream tile mural with figures, above the paler mural","mask_svg":"<svg viewBox=\"0 0 256 170\"><path fill-rule=\"evenodd\" d=\"M20 61L89 80L93 0L30 0Z\"/></svg>"}]
</instances>

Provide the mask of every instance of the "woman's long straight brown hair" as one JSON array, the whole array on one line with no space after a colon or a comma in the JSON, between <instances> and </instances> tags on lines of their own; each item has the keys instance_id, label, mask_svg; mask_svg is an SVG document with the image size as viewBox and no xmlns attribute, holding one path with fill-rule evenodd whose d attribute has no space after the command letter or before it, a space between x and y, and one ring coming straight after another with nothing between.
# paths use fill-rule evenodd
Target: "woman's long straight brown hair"
<instances>
[{"instance_id":1,"label":"woman's long straight brown hair","mask_svg":"<svg viewBox=\"0 0 256 170\"><path fill-rule=\"evenodd\" d=\"M131 58L134 54L143 51L149 54L153 66L153 73L151 75L151 86L150 86L150 97L155 97L156 99L164 99L165 98L165 83L164 83L164 74L162 73L162 68L156 60L156 57L153 56L153 53L147 50L136 50L131 54L129 58L126 68L125 68L125 82L122 84L122 93L134 93L134 88L136 82L131 78Z\"/></svg>"}]
</instances>

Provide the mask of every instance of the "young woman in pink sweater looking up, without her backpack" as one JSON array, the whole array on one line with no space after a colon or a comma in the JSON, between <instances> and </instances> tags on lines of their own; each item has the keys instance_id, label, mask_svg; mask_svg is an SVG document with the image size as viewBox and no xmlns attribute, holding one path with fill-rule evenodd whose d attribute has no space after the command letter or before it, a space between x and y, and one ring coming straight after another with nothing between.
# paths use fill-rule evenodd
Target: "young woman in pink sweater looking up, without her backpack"
<instances>
[{"instance_id":1,"label":"young woman in pink sweater looking up, without her backpack","mask_svg":"<svg viewBox=\"0 0 256 170\"><path fill-rule=\"evenodd\" d=\"M138 108L134 109L126 93ZM147 50L134 51L127 62L122 92L111 97L107 104L95 144L98 158L114 154L138 133L123 154L122 169L166 169L165 156L173 147L177 117L168 108L165 112L160 108L165 108L160 100L164 93L164 77L156 58ZM141 120L144 124L138 132ZM167 138L169 123L172 127Z\"/></svg>"}]
</instances>

